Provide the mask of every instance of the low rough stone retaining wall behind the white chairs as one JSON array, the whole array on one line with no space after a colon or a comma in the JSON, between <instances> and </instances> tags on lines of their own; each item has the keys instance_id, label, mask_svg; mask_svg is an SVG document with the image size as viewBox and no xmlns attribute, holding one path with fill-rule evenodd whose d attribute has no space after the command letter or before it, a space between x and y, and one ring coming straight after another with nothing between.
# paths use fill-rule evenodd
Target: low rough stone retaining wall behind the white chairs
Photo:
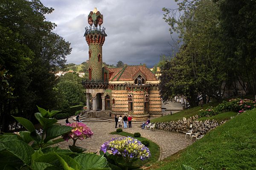
<instances>
[{"instance_id":1,"label":"low rough stone retaining wall behind the white chairs","mask_svg":"<svg viewBox=\"0 0 256 170\"><path fill-rule=\"evenodd\" d=\"M200 135L203 135L223 123L223 121L218 123L216 120L198 121L198 115L196 115L189 119L183 118L183 120L173 122L157 122L156 128L180 133L186 133L192 128L193 133L199 132ZM190 127L191 125L192 127Z\"/></svg>"}]
</instances>

